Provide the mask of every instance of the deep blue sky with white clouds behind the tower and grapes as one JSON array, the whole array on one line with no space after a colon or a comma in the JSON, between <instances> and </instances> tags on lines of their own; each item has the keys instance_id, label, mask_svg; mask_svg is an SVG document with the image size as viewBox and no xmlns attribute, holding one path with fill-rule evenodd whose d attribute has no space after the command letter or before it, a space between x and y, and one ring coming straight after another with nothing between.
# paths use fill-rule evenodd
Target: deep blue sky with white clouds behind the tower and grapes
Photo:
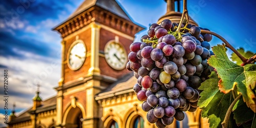
<instances>
[{"instance_id":1,"label":"deep blue sky with white clouds behind the tower and grapes","mask_svg":"<svg viewBox=\"0 0 256 128\"><path fill-rule=\"evenodd\" d=\"M83 0L1 1L0 71L9 70L9 110L16 103L18 112L32 105L36 84L41 98L56 95L60 78L60 35L51 29L75 11ZM138 24L149 27L165 14L166 3L159 1L117 0ZM256 52L256 1L189 0L188 12L200 27L222 35L234 48ZM135 40L147 30L136 34ZM212 46L222 44L214 37ZM231 51L228 51L231 54ZM3 78L3 77L2 77ZM0 80L3 83L3 79ZM1 84L2 85L2 84ZM2 87L1 87L2 88ZM0 92L1 98L3 91ZM3 100L0 101L3 104ZM4 113L3 107L0 113ZM3 122L3 121L1 121Z\"/></svg>"}]
</instances>

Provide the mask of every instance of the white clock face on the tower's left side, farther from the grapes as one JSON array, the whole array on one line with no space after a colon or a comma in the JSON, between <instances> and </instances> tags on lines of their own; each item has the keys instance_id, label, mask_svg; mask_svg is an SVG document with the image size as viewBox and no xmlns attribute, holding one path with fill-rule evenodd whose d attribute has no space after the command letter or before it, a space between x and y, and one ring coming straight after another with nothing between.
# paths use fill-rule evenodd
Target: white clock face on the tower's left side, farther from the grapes
<instances>
[{"instance_id":1,"label":"white clock face on the tower's left side, farther from the grapes","mask_svg":"<svg viewBox=\"0 0 256 128\"><path fill-rule=\"evenodd\" d=\"M78 70L86 59L86 46L82 41L75 41L68 53L68 66L72 70Z\"/></svg>"}]
</instances>

